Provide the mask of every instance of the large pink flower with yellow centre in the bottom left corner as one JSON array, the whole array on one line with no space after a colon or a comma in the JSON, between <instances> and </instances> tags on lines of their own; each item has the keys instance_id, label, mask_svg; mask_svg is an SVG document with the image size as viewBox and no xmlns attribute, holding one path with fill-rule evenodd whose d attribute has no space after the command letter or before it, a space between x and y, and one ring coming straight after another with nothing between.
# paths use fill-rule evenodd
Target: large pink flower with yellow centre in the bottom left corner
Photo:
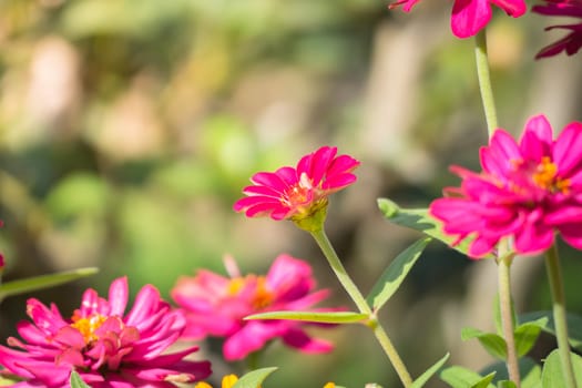
<instances>
[{"instance_id":1,"label":"large pink flower with yellow centre in the bottom left corner","mask_svg":"<svg viewBox=\"0 0 582 388\"><path fill-rule=\"evenodd\" d=\"M85 290L70 319L54 305L49 308L29 299L32 323L18 324L23 341L8 339L20 350L0 346L0 365L24 379L14 387L69 387L73 369L94 388L170 388L175 387L172 381L188 382L211 374L208 361L183 359L196 347L162 354L180 337L185 319L160 298L155 287L144 286L124 315L126 304L125 277L111 284L109 300Z\"/></svg>"}]
</instances>

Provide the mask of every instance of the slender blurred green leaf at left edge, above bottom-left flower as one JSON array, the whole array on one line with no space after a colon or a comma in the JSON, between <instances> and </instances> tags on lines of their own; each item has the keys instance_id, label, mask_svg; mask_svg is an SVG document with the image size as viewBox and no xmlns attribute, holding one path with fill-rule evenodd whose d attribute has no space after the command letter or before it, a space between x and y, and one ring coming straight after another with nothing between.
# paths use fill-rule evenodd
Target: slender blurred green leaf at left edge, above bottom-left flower
<instances>
[{"instance_id":1,"label":"slender blurred green leaf at left edge, above bottom-left flower","mask_svg":"<svg viewBox=\"0 0 582 388\"><path fill-rule=\"evenodd\" d=\"M73 282L79 278L94 275L99 272L95 267L79 268L65 270L57 274L28 277L13 282L7 282L0 285L0 302L7 296L30 293L38 289L59 286L64 283Z\"/></svg>"}]
</instances>

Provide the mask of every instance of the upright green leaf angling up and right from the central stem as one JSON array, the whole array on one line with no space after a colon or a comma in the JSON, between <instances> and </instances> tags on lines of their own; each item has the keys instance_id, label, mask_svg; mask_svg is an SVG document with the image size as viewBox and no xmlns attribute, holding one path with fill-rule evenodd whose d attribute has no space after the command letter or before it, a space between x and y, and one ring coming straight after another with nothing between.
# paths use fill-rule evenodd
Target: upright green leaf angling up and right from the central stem
<instances>
[{"instance_id":1,"label":"upright green leaf angling up and right from the central stem","mask_svg":"<svg viewBox=\"0 0 582 388\"><path fill-rule=\"evenodd\" d=\"M390 263L366 298L374 310L379 310L396 293L431 239L430 237L425 237L417 241Z\"/></svg>"}]
</instances>

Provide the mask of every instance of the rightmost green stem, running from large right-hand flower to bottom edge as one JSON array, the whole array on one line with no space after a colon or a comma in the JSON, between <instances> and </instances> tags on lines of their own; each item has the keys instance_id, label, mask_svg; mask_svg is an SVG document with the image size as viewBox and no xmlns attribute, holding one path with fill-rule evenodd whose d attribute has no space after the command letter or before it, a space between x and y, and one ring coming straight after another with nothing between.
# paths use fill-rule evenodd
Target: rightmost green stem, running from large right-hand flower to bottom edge
<instances>
[{"instance_id":1,"label":"rightmost green stem, running from large right-hand flower to bottom edge","mask_svg":"<svg viewBox=\"0 0 582 388\"><path fill-rule=\"evenodd\" d=\"M562 364L562 372L568 388L575 388L574 369L570 356L570 345L568 344L568 324L565 314L565 296L560 269L560 257L558 248L552 245L545 253L545 269L553 299L553 320L555 325L555 337L558 338L558 351Z\"/></svg>"}]
</instances>

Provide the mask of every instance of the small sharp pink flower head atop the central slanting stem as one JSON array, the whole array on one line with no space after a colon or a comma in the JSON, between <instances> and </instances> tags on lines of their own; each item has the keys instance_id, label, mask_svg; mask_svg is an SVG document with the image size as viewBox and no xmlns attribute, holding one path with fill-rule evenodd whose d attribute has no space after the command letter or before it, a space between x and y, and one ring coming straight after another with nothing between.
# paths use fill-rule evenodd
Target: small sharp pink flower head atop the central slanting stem
<instances>
[{"instance_id":1,"label":"small sharp pink flower head atop the central slanting stem","mask_svg":"<svg viewBox=\"0 0 582 388\"><path fill-rule=\"evenodd\" d=\"M249 217L270 215L273 219L307 217L327 204L327 196L354 182L359 162L349 155L337 156L337 147L323 146L305 155L296 167L253 175L247 196L234 204L236 212Z\"/></svg>"}]
</instances>

